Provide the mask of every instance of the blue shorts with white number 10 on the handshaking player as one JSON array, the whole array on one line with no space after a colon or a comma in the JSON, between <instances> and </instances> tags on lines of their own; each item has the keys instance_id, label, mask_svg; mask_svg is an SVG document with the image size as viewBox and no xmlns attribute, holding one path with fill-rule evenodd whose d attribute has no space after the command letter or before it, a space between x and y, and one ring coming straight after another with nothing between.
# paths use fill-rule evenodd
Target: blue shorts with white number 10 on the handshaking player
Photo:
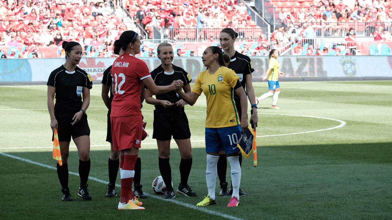
<instances>
[{"instance_id":1,"label":"blue shorts with white number 10 on the handshaking player","mask_svg":"<svg viewBox=\"0 0 392 220\"><path fill-rule=\"evenodd\" d=\"M240 125L222 128L205 128L205 152L217 153L222 150L226 154L239 152L238 140L241 138Z\"/></svg>"}]
</instances>

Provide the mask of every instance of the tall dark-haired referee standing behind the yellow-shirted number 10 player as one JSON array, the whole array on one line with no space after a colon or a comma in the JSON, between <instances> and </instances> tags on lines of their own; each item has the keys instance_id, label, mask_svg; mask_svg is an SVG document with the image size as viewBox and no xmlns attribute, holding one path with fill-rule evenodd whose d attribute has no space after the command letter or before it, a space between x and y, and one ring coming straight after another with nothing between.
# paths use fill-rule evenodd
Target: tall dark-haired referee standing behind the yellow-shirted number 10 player
<instances>
[{"instance_id":1,"label":"tall dark-haired referee standing behind the yellow-shirted number 10 player","mask_svg":"<svg viewBox=\"0 0 392 220\"><path fill-rule=\"evenodd\" d=\"M219 41L224 53L230 56L230 63L227 65L229 69L234 70L237 76L240 77L241 86L246 91L249 102L252 107L252 115L250 116L250 123L253 125L254 129L257 127L257 123L259 121L257 115L257 105L254 95L254 89L252 85L252 72L254 72L252 61L247 55L240 54L234 49L234 42L238 37L238 33L236 33L231 28L225 28L221 30L219 34ZM234 101L236 103L236 108L238 111L238 115L241 115L241 102L240 97L237 93L234 93ZM240 166L242 165L242 154L241 152L238 154L240 160ZM227 172L227 159L225 152L220 152L219 160L218 160L218 177L220 181L220 196L228 196L232 194L232 186L230 186L230 192L227 190L227 182L226 182L226 172ZM240 189L240 196L246 195Z\"/></svg>"}]
</instances>

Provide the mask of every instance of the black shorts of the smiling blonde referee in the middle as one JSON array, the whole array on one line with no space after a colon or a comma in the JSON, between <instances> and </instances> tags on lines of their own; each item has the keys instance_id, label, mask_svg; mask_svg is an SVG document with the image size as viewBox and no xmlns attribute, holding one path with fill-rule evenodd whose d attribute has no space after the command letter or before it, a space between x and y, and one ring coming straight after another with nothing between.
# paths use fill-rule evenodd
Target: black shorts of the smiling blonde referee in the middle
<instances>
[{"instance_id":1,"label":"black shorts of the smiling blonde referee in the middle","mask_svg":"<svg viewBox=\"0 0 392 220\"><path fill-rule=\"evenodd\" d=\"M152 138L160 141L185 140L191 138L189 122L184 109L178 111L162 112L154 110L154 131Z\"/></svg>"}]
</instances>

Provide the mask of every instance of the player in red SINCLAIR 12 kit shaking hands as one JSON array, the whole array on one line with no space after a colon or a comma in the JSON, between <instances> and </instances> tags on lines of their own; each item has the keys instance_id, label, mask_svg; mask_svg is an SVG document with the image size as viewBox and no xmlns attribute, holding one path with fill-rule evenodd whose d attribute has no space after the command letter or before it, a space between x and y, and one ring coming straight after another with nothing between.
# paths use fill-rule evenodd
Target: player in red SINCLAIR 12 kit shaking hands
<instances>
[{"instance_id":1,"label":"player in red SINCLAIR 12 kit shaking hands","mask_svg":"<svg viewBox=\"0 0 392 220\"><path fill-rule=\"evenodd\" d=\"M140 106L142 82L153 95L181 89L183 86L183 82L179 81L174 81L169 86L156 86L147 64L135 57L140 53L140 45L140 37L132 30L124 31L120 38L114 41L115 50L122 48L124 51L114 61L111 70L114 82L110 114L113 150L120 150L120 155L124 157L120 172L121 193L118 209L144 209L140 207L142 202L135 198L132 192L134 166L143 130Z\"/></svg>"}]
</instances>

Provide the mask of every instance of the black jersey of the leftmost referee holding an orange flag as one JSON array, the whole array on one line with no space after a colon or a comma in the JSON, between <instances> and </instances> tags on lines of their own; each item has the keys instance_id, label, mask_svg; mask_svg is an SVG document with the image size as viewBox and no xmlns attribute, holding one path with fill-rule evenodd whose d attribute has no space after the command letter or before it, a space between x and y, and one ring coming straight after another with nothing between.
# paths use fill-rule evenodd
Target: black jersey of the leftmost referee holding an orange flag
<instances>
[{"instance_id":1,"label":"black jersey of the leftmost referee holding an orange flag","mask_svg":"<svg viewBox=\"0 0 392 220\"><path fill-rule=\"evenodd\" d=\"M87 74L78 66L76 66L74 71L69 72L61 65L51 72L46 85L56 88L54 111L58 113L73 113L82 109L83 87L93 88L93 79L91 79L90 74Z\"/></svg>"}]
</instances>

